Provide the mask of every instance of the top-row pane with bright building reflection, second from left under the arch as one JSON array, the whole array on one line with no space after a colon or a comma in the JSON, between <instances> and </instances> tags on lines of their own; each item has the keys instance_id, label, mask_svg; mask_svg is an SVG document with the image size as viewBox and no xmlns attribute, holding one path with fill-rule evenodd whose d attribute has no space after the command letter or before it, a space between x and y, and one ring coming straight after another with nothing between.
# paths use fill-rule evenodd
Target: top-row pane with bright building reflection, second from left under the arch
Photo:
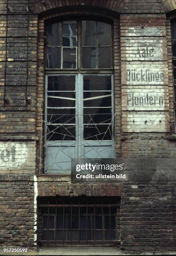
<instances>
[{"instance_id":1,"label":"top-row pane with bright building reflection, second from left under the arch","mask_svg":"<svg viewBox=\"0 0 176 256\"><path fill-rule=\"evenodd\" d=\"M77 22L69 20L63 22L63 46L77 46Z\"/></svg>"}]
</instances>

